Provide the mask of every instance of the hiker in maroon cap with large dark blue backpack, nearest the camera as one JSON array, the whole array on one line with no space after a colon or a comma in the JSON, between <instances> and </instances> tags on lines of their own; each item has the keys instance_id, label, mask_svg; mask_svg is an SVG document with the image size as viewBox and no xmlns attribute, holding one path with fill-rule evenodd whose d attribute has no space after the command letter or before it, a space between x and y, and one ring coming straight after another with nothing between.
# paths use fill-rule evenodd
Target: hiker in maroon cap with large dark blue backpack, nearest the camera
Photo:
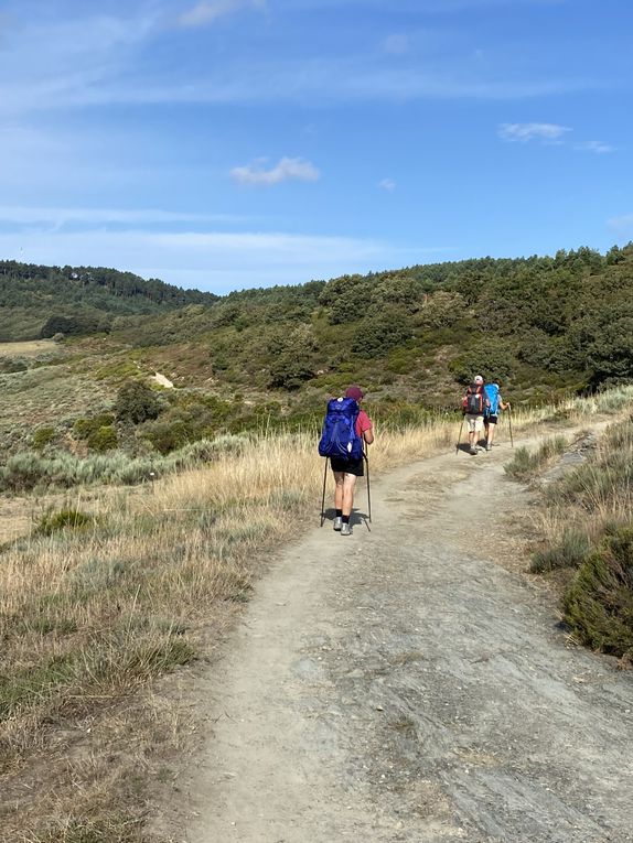
<instances>
[{"instance_id":1,"label":"hiker in maroon cap with large dark blue backpack, nearest the camera","mask_svg":"<svg viewBox=\"0 0 633 843\"><path fill-rule=\"evenodd\" d=\"M319 442L319 453L329 457L334 482L334 529L341 536L351 536L350 516L354 506L356 479L363 477L365 445L374 441L372 420L361 409L364 398L361 387L351 386L342 398L333 398L328 402L323 432ZM323 477L323 504L321 507L321 523L325 500L325 480L328 466Z\"/></svg>"}]
</instances>

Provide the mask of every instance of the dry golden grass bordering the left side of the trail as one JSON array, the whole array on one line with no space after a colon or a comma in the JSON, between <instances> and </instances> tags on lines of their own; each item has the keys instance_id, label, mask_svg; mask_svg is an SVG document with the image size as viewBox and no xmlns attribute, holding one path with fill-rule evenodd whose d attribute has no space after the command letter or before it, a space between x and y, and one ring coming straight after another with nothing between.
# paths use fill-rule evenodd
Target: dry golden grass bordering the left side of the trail
<instances>
[{"instance_id":1,"label":"dry golden grass bordering the left side of the trail","mask_svg":"<svg viewBox=\"0 0 633 843\"><path fill-rule=\"evenodd\" d=\"M372 468L453 437L384 432ZM312 434L258 439L94 514L68 501L2 548L2 840L143 839L186 731L152 680L210 653L268 553L316 518L322 467Z\"/></svg>"}]
</instances>

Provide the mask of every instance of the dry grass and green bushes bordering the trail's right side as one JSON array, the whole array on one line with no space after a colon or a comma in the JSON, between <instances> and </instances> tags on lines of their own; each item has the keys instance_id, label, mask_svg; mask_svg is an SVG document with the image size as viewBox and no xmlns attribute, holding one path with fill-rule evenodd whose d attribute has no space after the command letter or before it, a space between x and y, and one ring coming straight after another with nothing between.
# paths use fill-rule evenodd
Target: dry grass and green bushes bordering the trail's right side
<instances>
[{"instance_id":1,"label":"dry grass and green bushes bordering the trail's right side","mask_svg":"<svg viewBox=\"0 0 633 843\"><path fill-rule=\"evenodd\" d=\"M544 485L534 518L539 545L532 569L551 576L572 636L621 664L633 661L633 388L611 390L583 410L616 414L581 462ZM545 447L547 446L547 447ZM534 476L539 457L554 447L517 454L506 471ZM530 464L532 472L522 472Z\"/></svg>"}]
</instances>

